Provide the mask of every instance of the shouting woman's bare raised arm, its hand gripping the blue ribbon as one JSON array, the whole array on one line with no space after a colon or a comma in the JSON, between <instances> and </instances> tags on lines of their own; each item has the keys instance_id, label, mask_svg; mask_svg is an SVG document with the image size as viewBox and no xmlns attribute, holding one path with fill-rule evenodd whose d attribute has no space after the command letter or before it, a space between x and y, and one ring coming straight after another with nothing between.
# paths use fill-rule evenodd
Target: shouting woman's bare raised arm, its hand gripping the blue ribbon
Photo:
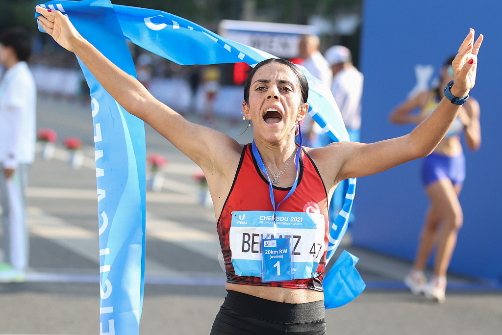
<instances>
[{"instance_id":1,"label":"shouting woman's bare raised arm, its hand gripping the blue ribbon","mask_svg":"<svg viewBox=\"0 0 502 335\"><path fill-rule=\"evenodd\" d=\"M187 121L158 101L134 77L119 69L86 41L58 11L36 8L42 28L63 48L75 53L110 95L129 113L142 119L208 172L226 175L242 147L230 137ZM230 171L232 174L235 172Z\"/></svg>"}]
</instances>

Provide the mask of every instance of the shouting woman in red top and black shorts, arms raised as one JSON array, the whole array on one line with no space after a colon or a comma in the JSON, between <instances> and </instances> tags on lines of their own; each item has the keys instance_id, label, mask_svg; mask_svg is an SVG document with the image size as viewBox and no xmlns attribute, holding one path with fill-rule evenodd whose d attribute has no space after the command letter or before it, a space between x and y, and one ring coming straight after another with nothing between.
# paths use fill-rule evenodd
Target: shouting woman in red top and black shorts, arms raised
<instances>
[{"instance_id":1,"label":"shouting woman in red top and black shorts, arms raised","mask_svg":"<svg viewBox=\"0 0 502 335\"><path fill-rule=\"evenodd\" d=\"M259 63L246 81L242 113L253 124L255 140L240 145L215 130L188 122L159 102L83 39L61 13L41 7L37 12L42 15L38 18L42 28L74 52L122 107L147 122L204 171L218 218L228 291L212 334L324 334L322 279L329 231L328 194L343 179L427 156L460 110L443 99L406 136L371 144L337 142L304 148L295 144L295 133L309 107L307 81L294 64L269 59ZM466 96L474 86L481 41L482 35L474 42L471 30L461 44L453 61L451 93L455 96ZM281 237L294 240L292 280L261 278L260 261L256 266L260 236L270 237L272 226L291 223L292 217L302 229L290 225L289 231L302 231L297 235L301 238L287 236L284 231L289 228L281 227L274 228L280 238L272 238L278 244ZM309 253L313 244L315 254Z\"/></svg>"}]
</instances>

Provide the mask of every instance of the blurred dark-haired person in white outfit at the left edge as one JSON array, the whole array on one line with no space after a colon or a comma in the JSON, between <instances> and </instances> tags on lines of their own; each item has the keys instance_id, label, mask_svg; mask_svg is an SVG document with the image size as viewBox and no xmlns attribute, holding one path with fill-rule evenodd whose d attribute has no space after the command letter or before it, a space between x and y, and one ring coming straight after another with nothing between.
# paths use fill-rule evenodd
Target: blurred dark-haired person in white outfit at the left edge
<instances>
[{"instance_id":1,"label":"blurred dark-haired person in white outfit at the left edge","mask_svg":"<svg viewBox=\"0 0 502 335\"><path fill-rule=\"evenodd\" d=\"M29 259L25 188L35 155L37 90L26 61L30 34L10 28L0 36L0 205L2 249L0 282L23 282Z\"/></svg>"}]
</instances>

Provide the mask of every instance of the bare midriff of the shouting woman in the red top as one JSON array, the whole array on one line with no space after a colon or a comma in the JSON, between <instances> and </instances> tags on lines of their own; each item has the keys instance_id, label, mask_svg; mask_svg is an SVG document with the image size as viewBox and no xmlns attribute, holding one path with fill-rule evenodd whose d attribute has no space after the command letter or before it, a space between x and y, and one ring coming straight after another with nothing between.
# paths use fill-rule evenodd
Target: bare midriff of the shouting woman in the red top
<instances>
[{"instance_id":1,"label":"bare midriff of the shouting woman in the red top","mask_svg":"<svg viewBox=\"0 0 502 335\"><path fill-rule=\"evenodd\" d=\"M286 303L305 303L324 299L324 293L310 289L225 284L225 289Z\"/></svg>"}]
</instances>

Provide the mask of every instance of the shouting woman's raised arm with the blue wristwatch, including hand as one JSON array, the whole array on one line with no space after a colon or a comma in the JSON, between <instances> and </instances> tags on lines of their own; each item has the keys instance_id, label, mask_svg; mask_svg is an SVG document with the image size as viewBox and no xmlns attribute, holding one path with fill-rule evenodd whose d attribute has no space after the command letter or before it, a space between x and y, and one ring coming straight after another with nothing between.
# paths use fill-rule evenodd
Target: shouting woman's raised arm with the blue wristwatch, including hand
<instances>
[{"instance_id":1,"label":"shouting woman's raised arm with the blue wristwatch, including hand","mask_svg":"<svg viewBox=\"0 0 502 335\"><path fill-rule=\"evenodd\" d=\"M462 42L452 62L454 84L450 91L454 96L466 96L474 86L477 54L482 41L483 35L480 35L474 43L474 30L470 29ZM370 144L336 142L313 149L311 156L316 164L319 162L318 167L320 165L321 174L327 177L328 185L329 181L334 185L346 178L379 173L429 155L448 132L460 107L443 98L433 113L408 135Z\"/></svg>"}]
</instances>

